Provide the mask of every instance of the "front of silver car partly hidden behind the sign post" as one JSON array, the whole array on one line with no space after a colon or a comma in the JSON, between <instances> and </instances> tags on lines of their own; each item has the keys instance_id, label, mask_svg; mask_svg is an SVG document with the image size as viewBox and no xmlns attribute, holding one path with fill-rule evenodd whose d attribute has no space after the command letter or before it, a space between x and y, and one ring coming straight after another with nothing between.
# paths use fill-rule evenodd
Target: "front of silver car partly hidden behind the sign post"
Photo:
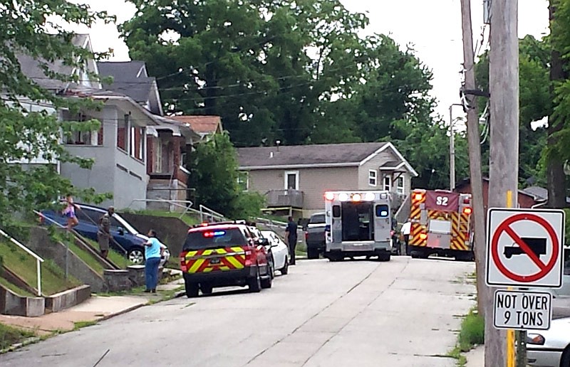
<instances>
[{"instance_id":1,"label":"front of silver car partly hidden behind the sign post","mask_svg":"<svg viewBox=\"0 0 570 367\"><path fill-rule=\"evenodd\" d=\"M529 366L570 367L570 317L552 320L548 330L527 332Z\"/></svg>"}]
</instances>

